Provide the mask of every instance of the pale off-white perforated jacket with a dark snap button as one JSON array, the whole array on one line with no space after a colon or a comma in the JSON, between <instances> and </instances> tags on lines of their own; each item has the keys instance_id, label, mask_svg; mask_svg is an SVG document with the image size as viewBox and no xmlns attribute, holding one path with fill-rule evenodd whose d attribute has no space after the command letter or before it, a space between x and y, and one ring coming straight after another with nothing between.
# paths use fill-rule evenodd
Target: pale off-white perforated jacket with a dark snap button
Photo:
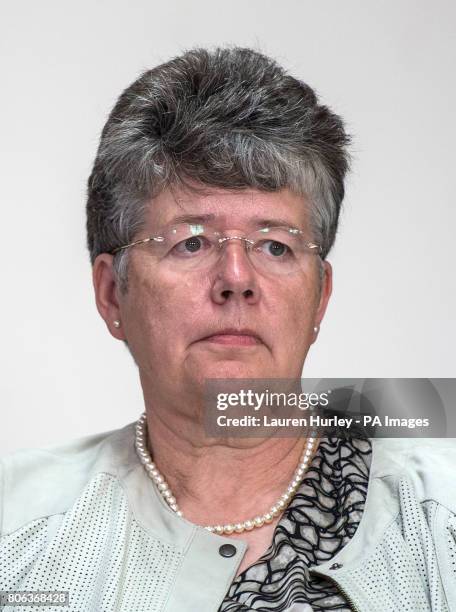
<instances>
[{"instance_id":1,"label":"pale off-white perforated jacket with a dark snap button","mask_svg":"<svg viewBox=\"0 0 456 612\"><path fill-rule=\"evenodd\" d=\"M361 523L310 572L360 612L456 612L456 441L372 445ZM247 548L168 508L137 459L134 423L4 457L0 535L0 591L69 591L71 612L217 612Z\"/></svg>"}]
</instances>

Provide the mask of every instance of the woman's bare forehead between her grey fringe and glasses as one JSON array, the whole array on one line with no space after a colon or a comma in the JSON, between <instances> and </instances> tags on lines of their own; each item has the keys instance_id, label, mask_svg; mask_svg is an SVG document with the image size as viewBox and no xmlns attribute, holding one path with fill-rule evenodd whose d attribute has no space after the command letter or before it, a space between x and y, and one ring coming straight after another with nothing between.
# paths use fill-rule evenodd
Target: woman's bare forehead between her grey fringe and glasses
<instances>
[{"instance_id":1,"label":"woman's bare forehead between her grey fringe and glasses","mask_svg":"<svg viewBox=\"0 0 456 612\"><path fill-rule=\"evenodd\" d=\"M302 228L308 225L308 207L304 196L289 189L265 192L207 188L194 193L174 188L162 191L150 202L145 221L149 229L158 229L186 216L210 215L214 222L233 229L264 222Z\"/></svg>"}]
</instances>

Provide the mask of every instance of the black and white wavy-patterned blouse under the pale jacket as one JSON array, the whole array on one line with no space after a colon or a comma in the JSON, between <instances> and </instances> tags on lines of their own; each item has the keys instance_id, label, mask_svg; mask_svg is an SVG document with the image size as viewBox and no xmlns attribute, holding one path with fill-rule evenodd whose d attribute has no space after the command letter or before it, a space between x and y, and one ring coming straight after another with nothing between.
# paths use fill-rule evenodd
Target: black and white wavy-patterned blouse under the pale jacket
<instances>
[{"instance_id":1,"label":"black and white wavy-patterned blouse under the pale jacket","mask_svg":"<svg viewBox=\"0 0 456 612\"><path fill-rule=\"evenodd\" d=\"M350 611L337 587L308 567L330 560L353 537L367 496L367 439L321 439L307 475L264 555L237 576L219 612Z\"/></svg>"}]
</instances>

